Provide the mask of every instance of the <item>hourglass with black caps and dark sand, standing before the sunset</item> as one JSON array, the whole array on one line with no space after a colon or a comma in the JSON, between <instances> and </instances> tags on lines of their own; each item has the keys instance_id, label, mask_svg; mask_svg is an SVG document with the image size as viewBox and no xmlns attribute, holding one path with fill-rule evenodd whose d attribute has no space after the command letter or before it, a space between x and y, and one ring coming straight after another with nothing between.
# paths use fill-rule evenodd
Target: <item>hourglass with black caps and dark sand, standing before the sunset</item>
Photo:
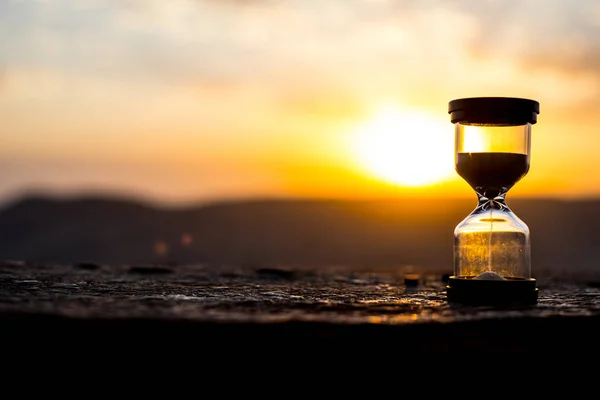
<instances>
[{"instance_id":1,"label":"hourglass with black caps and dark sand, standing before the sunset","mask_svg":"<svg viewBox=\"0 0 600 400\"><path fill-rule=\"evenodd\" d=\"M454 230L449 302L535 304L530 232L508 207L508 191L529 171L539 103L511 97L452 100L455 167L477 194L477 207Z\"/></svg>"}]
</instances>

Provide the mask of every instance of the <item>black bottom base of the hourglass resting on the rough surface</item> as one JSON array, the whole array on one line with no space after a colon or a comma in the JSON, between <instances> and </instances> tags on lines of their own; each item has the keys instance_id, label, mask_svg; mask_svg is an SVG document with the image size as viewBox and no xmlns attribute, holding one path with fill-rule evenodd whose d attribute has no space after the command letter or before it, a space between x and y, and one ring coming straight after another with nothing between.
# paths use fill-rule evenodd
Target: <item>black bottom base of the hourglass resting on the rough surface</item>
<instances>
[{"instance_id":1,"label":"black bottom base of the hourglass resting on the rough surface","mask_svg":"<svg viewBox=\"0 0 600 400\"><path fill-rule=\"evenodd\" d=\"M533 305L537 304L538 288L535 279L479 280L451 276L446 295L448 302L465 305Z\"/></svg>"}]
</instances>

